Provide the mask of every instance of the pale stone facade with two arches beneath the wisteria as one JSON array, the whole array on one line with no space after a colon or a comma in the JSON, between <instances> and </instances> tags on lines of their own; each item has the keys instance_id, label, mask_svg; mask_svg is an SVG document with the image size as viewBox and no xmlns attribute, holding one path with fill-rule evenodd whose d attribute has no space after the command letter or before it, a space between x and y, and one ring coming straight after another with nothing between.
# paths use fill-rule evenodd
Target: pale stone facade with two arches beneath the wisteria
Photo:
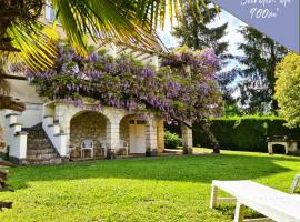
<instances>
[{"instance_id":1,"label":"pale stone facade with two arches beneath the wisteria","mask_svg":"<svg viewBox=\"0 0 300 222\"><path fill-rule=\"evenodd\" d=\"M48 107L52 107L54 120L59 123L60 130L67 134L67 147L70 149L71 158L81 157L81 143L87 139L94 141L96 158L104 155L100 141L107 142L109 148L119 151L120 140L123 140L129 144L130 152L130 139L132 139L130 120L132 119L146 121L147 152L150 154L163 152L163 120L153 114L142 118L140 114L128 113L126 110L110 107L103 107L98 112L90 111L89 108L76 108L63 103L52 103ZM48 110L48 112L50 111ZM123 151L118 152L118 154L124 153Z\"/></svg>"}]
</instances>

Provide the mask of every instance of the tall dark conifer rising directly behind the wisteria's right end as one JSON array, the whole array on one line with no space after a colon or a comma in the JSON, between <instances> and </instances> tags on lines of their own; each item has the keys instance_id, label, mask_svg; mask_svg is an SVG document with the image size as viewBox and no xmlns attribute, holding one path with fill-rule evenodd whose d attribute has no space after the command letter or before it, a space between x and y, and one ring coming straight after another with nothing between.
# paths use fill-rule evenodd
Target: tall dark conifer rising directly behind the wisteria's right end
<instances>
[{"instance_id":1,"label":"tall dark conifer rising directly behind the wisteria's right end","mask_svg":"<svg viewBox=\"0 0 300 222\"><path fill-rule=\"evenodd\" d=\"M228 59L233 59L232 54L228 53L229 43L223 40L227 34L228 23L220 26L211 26L218 16L217 7L210 0L204 0L207 9L201 10L202 19L194 16L197 9L187 7L186 14L180 17L180 27L174 28L173 34L179 38L181 46L187 46L194 50L204 48L214 49L219 58L220 67L218 72L218 83L222 91L223 100L228 105L234 104L236 101L231 97L232 89L230 83L236 79L236 72L232 70L222 71L222 68L229 62Z\"/></svg>"}]
</instances>

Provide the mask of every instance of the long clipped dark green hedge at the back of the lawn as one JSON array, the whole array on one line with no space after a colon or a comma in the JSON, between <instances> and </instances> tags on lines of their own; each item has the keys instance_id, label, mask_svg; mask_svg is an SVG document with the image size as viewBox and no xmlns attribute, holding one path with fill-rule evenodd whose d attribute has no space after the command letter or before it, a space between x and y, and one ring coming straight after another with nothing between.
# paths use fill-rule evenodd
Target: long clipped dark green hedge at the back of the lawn
<instances>
[{"instance_id":1,"label":"long clipped dark green hedge at the back of the lawn","mask_svg":"<svg viewBox=\"0 0 300 222\"><path fill-rule=\"evenodd\" d=\"M221 149L237 151L267 152L266 139L270 135L291 135L300 139L300 129L289 129L281 118L270 117L243 117L213 119L211 130L217 137ZM167 130L181 134L178 125L166 125ZM207 134L196 123L193 131L193 144L211 147Z\"/></svg>"}]
</instances>

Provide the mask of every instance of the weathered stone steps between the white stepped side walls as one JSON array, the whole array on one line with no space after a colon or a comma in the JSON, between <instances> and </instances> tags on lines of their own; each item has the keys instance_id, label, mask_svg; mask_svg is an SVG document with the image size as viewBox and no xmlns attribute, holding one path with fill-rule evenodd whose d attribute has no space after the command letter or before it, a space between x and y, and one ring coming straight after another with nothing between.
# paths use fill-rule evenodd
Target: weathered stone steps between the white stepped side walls
<instances>
[{"instance_id":1,"label":"weathered stone steps between the white stepped side walls","mask_svg":"<svg viewBox=\"0 0 300 222\"><path fill-rule=\"evenodd\" d=\"M22 161L23 165L46 165L60 164L66 161L54 149L48 139L42 123L32 128L24 129L28 132L27 138L27 158Z\"/></svg>"}]
</instances>

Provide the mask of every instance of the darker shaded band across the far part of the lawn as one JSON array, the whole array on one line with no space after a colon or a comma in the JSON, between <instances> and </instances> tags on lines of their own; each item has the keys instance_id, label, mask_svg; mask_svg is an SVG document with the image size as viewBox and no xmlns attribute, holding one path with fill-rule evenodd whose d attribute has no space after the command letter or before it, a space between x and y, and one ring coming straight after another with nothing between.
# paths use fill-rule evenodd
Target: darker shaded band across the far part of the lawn
<instances>
[{"instance_id":1,"label":"darker shaded band across the far part of the lawn","mask_svg":"<svg viewBox=\"0 0 300 222\"><path fill-rule=\"evenodd\" d=\"M288 168L276 164L274 161L299 162L299 159L221 154L88 161L11 169L10 183L14 189L27 188L30 181L92 178L211 183L212 180L253 180L290 171Z\"/></svg>"}]
</instances>

